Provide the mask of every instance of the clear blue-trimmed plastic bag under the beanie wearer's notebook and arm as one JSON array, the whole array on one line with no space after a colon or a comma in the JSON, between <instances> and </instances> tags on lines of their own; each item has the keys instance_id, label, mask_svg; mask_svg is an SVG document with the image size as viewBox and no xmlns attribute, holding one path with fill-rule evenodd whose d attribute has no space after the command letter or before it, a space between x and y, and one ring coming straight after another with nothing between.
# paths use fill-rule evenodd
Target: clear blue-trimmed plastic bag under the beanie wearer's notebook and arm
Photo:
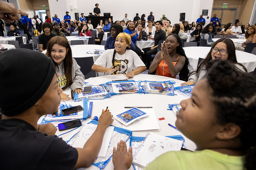
<instances>
[{"instance_id":1,"label":"clear blue-trimmed plastic bag under the beanie wearer's notebook and arm","mask_svg":"<svg viewBox=\"0 0 256 170\"><path fill-rule=\"evenodd\" d=\"M91 122L89 122L89 124L98 125L98 121L92 120ZM120 142L120 140L127 141L132 136L132 131L126 130L126 129L123 129L123 128L119 128L119 127L115 127L113 134L114 135L111 137L109 148L108 148L108 151L106 153L106 157L105 158L99 158L98 157L93 163L94 166L97 166L101 169L105 168L105 166L109 163L109 161L112 158L113 148L117 147L117 143ZM72 137L72 139L70 139L67 142L69 145L73 143L74 139L76 138L76 135L74 135Z\"/></svg>"}]
</instances>

